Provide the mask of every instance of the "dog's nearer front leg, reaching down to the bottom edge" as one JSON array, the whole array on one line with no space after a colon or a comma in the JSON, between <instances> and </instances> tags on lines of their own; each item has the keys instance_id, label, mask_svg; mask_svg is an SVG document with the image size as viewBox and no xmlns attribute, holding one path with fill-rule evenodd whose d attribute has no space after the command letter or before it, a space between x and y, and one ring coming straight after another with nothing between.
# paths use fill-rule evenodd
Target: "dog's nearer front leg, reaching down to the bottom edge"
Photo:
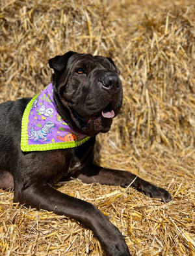
<instances>
[{"instance_id":1,"label":"dog's nearer front leg, reaching down to the bottom edge","mask_svg":"<svg viewBox=\"0 0 195 256\"><path fill-rule=\"evenodd\" d=\"M15 185L14 202L77 219L94 232L107 256L130 256L122 234L104 214L89 202L60 193L47 182L36 182L20 191Z\"/></svg>"}]
</instances>

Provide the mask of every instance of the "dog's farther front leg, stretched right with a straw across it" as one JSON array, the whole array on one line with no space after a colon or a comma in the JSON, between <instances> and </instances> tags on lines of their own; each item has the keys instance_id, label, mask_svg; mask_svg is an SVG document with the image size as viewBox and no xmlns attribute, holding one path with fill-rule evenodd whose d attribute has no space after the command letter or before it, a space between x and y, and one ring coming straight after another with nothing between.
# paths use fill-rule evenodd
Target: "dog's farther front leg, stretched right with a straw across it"
<instances>
[{"instance_id":1,"label":"dog's farther front leg, stretched right with a straw across it","mask_svg":"<svg viewBox=\"0 0 195 256\"><path fill-rule=\"evenodd\" d=\"M172 200L170 194L165 189L150 184L146 180L142 180L135 174L125 170L112 170L92 164L89 167L83 168L77 178L86 183L98 182L107 185L121 185L122 187L131 185L131 187L135 187L138 191L144 192L149 197L161 199L163 202Z\"/></svg>"}]
</instances>

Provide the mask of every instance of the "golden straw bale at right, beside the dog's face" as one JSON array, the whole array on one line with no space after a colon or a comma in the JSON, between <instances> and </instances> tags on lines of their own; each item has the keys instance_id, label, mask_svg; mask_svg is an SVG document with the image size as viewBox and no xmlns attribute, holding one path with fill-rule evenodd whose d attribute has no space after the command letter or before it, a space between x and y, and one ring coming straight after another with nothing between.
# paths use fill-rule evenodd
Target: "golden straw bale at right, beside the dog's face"
<instances>
[{"instance_id":1,"label":"golden straw bale at right, beside the dog's face","mask_svg":"<svg viewBox=\"0 0 195 256\"><path fill-rule=\"evenodd\" d=\"M145 15L135 27L122 55L128 118L120 122L134 144L195 145L194 24L193 5Z\"/></svg>"}]
</instances>

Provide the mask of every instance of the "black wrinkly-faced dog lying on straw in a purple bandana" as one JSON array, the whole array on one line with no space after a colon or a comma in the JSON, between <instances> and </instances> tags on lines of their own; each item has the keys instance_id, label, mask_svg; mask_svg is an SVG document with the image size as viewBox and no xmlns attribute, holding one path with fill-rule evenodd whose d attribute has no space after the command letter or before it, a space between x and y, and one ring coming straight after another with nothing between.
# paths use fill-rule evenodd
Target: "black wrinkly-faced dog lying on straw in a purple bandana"
<instances>
[{"instance_id":1,"label":"black wrinkly-faced dog lying on straw in a purple bandana","mask_svg":"<svg viewBox=\"0 0 195 256\"><path fill-rule=\"evenodd\" d=\"M76 177L87 183L122 187L131 184L150 197L164 202L171 200L166 190L135 174L101 168L92 163L95 136L109 131L112 119L122 105L120 71L110 58L75 52L50 59L49 66L54 70L52 91L53 104L59 114L57 120L63 127L68 125L69 137L56 136L60 139L60 149L44 148L40 151L42 146L38 148L36 145L35 150L21 150L21 120L31 99L0 104L0 187L14 189L14 202L77 219L94 232L107 256L130 255L122 234L97 208L52 187L60 180ZM47 97L44 98L50 104ZM40 108L38 101L38 98L34 99L31 109L34 108L40 121L45 123L44 126L39 124L39 129L32 125L27 139L44 145L49 143L49 136L57 126L53 121L47 121L53 116L53 110L49 109L49 114L46 114L45 107ZM63 127L59 128L62 132ZM78 135L84 135L81 143L77 141ZM65 140L70 146L63 148Z\"/></svg>"}]
</instances>

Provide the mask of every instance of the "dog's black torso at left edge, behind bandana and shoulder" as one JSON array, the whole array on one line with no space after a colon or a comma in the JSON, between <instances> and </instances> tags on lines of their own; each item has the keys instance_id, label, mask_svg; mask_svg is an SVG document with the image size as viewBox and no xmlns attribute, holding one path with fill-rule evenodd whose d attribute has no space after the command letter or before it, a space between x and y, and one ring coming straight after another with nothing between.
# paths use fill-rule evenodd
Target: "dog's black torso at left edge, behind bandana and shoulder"
<instances>
[{"instance_id":1,"label":"dog's black torso at left edge, behind bandana and shoulder","mask_svg":"<svg viewBox=\"0 0 195 256\"><path fill-rule=\"evenodd\" d=\"M21 118L29 101L25 98L0 104L0 187L3 189L14 188L12 171L18 159Z\"/></svg>"}]
</instances>

